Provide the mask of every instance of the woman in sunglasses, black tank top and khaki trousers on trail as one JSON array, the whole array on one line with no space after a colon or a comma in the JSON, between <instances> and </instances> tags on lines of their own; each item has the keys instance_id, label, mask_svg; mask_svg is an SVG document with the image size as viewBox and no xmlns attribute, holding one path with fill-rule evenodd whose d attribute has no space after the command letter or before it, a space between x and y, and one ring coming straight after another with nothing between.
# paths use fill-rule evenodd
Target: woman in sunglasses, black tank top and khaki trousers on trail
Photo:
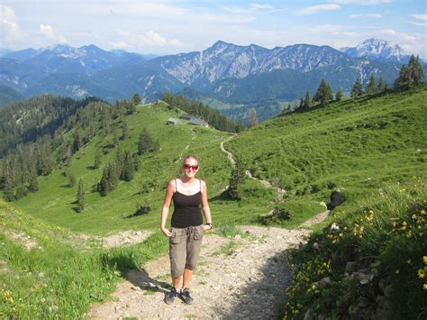
<instances>
[{"instance_id":1,"label":"woman in sunglasses, black tank top and khaki trousers on trail","mask_svg":"<svg viewBox=\"0 0 427 320\"><path fill-rule=\"evenodd\" d=\"M168 182L165 202L161 209L160 230L169 238L170 270L172 285L165 302L171 304L180 297L187 304L193 303L188 286L202 246L204 231L212 230L211 210L207 202L207 188L203 180L195 178L199 160L186 156L183 162L183 175ZM170 201L174 202L170 231L165 227ZM200 211L202 205L206 224ZM183 277L182 290L179 290Z\"/></svg>"}]
</instances>

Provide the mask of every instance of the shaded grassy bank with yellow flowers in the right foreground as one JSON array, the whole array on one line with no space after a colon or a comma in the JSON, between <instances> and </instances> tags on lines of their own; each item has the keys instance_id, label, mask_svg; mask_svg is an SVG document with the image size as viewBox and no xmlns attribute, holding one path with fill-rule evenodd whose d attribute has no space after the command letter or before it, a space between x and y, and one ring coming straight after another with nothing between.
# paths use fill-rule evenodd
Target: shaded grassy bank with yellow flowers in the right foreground
<instances>
[{"instance_id":1,"label":"shaded grassy bank with yellow flowers in the right foreground","mask_svg":"<svg viewBox=\"0 0 427 320\"><path fill-rule=\"evenodd\" d=\"M291 253L285 319L425 318L427 197L389 187Z\"/></svg>"}]
</instances>

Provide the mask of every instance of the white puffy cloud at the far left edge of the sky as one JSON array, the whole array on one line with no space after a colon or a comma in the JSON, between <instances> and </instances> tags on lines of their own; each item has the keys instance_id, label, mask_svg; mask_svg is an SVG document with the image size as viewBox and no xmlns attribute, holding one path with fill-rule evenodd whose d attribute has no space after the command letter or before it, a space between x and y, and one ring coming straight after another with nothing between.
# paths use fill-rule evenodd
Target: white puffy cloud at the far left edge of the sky
<instances>
[{"instance_id":1,"label":"white puffy cloud at the far left edge of the sky","mask_svg":"<svg viewBox=\"0 0 427 320\"><path fill-rule=\"evenodd\" d=\"M0 33L2 33L2 46L13 48L17 42L23 41L23 34L14 9L6 5L0 5Z\"/></svg>"}]
</instances>

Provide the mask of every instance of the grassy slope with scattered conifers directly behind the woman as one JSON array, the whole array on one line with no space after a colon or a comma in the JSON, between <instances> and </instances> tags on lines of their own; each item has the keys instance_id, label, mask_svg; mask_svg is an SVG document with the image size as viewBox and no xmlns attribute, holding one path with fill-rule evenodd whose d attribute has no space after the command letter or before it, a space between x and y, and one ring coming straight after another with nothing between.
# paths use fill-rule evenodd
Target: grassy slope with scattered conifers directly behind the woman
<instances>
[{"instance_id":1,"label":"grassy slope with scattered conifers directly behind the woman","mask_svg":"<svg viewBox=\"0 0 427 320\"><path fill-rule=\"evenodd\" d=\"M77 214L74 210L77 183L75 187L67 186L68 179L62 175L65 169L56 169L50 176L39 178L40 190L15 202L14 206L51 224L77 232L114 233L119 230L157 228L167 181L178 176L181 160L177 159L188 153L197 155L201 160L199 177L208 184L215 224L249 223L256 215L267 212L273 206L271 200L274 193L268 191L255 192L254 196L241 203L222 197L221 192L228 185L232 167L221 151L220 143L229 137L229 133L188 124L166 125L165 121L170 116L177 116L177 113L159 105L139 105L136 114L126 117L129 139L122 143L123 149L136 151L141 129L147 128L159 140L161 150L154 157L143 155L141 169L135 178L131 182L121 181L114 192L106 197L92 191L91 186L100 180L104 165L115 157L115 149L107 147L113 143L113 134L106 137L98 135L77 152L70 169L77 181L80 177L84 179L85 212ZM121 128L122 123L114 125ZM97 149L109 153L103 155L100 169L90 169ZM252 181L248 181L247 187L250 190L262 189ZM144 200L151 206L150 214L126 218L135 212L136 203L143 204Z\"/></svg>"}]
</instances>

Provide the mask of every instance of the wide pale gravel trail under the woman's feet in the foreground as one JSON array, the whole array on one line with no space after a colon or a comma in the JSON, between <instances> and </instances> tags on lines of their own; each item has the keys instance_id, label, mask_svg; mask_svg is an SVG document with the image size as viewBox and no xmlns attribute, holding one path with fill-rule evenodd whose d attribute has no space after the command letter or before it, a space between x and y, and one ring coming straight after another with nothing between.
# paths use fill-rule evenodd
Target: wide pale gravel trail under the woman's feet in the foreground
<instances>
[{"instance_id":1,"label":"wide pale gravel trail under the woman's feet in the foreground","mask_svg":"<svg viewBox=\"0 0 427 320\"><path fill-rule=\"evenodd\" d=\"M291 279L284 251L304 242L307 230L242 226L234 239L206 233L199 266L191 283L195 303L163 302L169 290L168 256L132 270L111 301L90 310L93 319L271 318L284 304ZM230 244L232 242L232 244ZM230 248L232 252L224 248Z\"/></svg>"}]
</instances>

